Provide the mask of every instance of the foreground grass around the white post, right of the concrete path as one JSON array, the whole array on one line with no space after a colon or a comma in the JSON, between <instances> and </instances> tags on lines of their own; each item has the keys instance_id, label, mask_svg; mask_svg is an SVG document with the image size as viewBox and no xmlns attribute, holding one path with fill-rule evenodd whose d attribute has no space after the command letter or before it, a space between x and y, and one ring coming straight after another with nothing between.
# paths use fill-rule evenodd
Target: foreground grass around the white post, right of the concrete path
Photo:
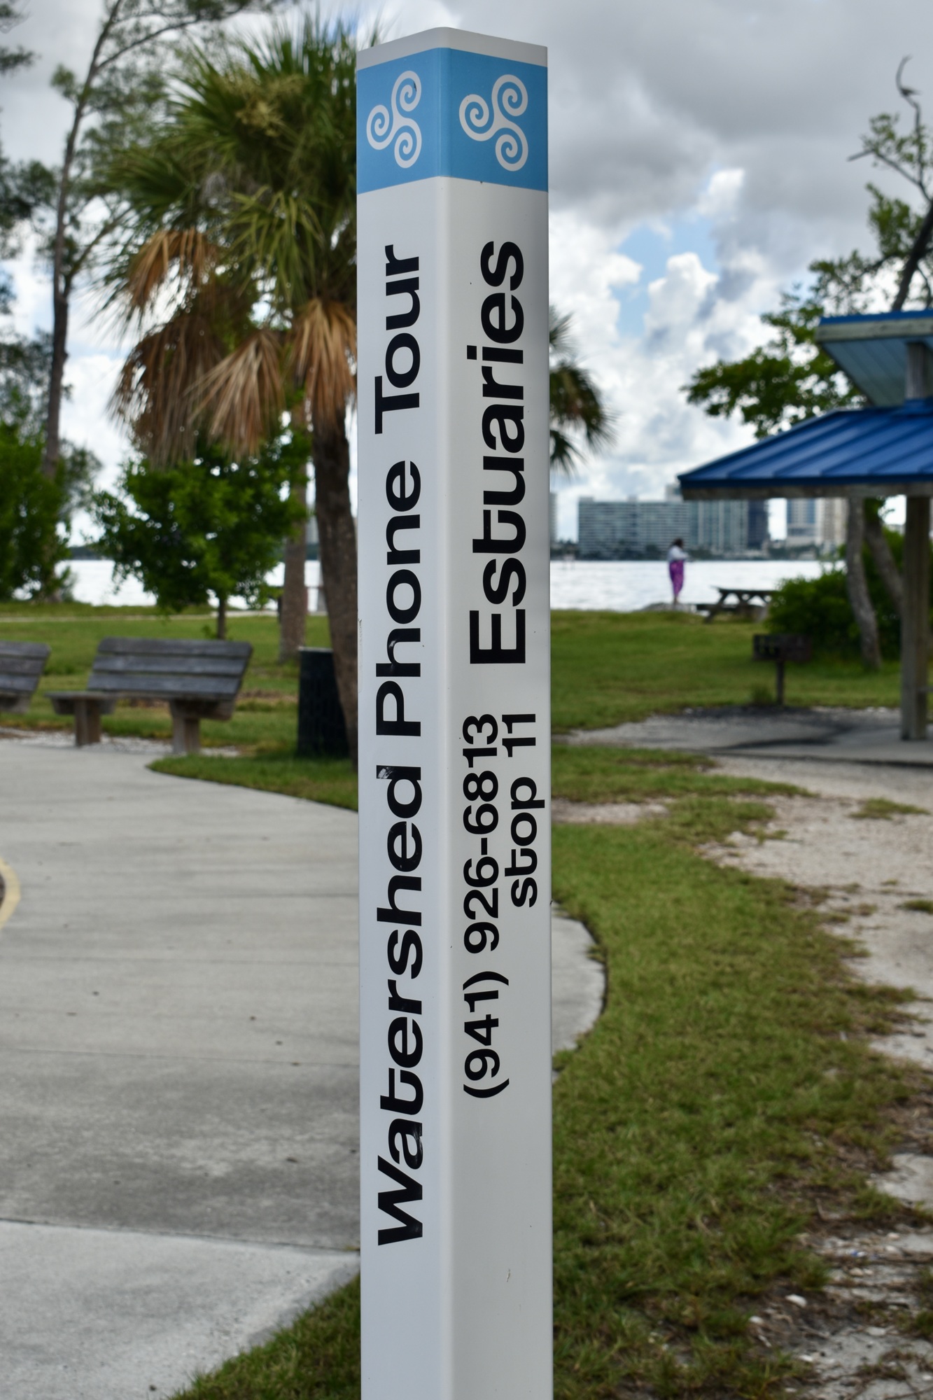
<instances>
[{"instance_id":1,"label":"foreground grass around the white post, right of the concrete path","mask_svg":"<svg viewBox=\"0 0 933 1400\"><path fill-rule=\"evenodd\" d=\"M555 753L562 795L670 802L636 827L555 830L555 897L608 976L604 1015L555 1085L559 1400L782 1394L799 1364L766 1352L748 1317L825 1281L799 1239L817 1205L904 1215L869 1173L919 1071L867 1037L898 1023L906 994L856 981L813 900L698 854L759 832L768 792L785 791L717 781L681 755ZM342 1289L185 1400L356 1400L357 1298Z\"/></svg>"}]
</instances>

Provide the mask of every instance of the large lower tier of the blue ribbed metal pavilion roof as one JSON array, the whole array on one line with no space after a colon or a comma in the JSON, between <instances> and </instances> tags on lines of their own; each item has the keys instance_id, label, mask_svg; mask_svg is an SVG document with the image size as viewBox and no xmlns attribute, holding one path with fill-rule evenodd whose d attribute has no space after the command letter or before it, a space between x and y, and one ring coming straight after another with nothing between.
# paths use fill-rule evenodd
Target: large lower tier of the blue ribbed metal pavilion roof
<instances>
[{"instance_id":1,"label":"large lower tier of the blue ribbed metal pavilion roof","mask_svg":"<svg viewBox=\"0 0 933 1400\"><path fill-rule=\"evenodd\" d=\"M679 477L685 500L933 496L933 399L836 409Z\"/></svg>"}]
</instances>

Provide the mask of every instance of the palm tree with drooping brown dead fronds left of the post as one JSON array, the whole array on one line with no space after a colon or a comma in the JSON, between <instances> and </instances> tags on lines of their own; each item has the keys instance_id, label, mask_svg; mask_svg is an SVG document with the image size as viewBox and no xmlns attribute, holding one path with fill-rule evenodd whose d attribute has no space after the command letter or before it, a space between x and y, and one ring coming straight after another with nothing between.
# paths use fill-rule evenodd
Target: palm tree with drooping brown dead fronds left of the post
<instances>
[{"instance_id":1,"label":"palm tree with drooping brown dead fronds left of the post","mask_svg":"<svg viewBox=\"0 0 933 1400\"><path fill-rule=\"evenodd\" d=\"M356 535L346 413L356 361L356 42L342 22L217 56L193 49L170 122L123 153L109 294L139 340L116 410L157 461L198 433L255 452L283 413L310 433L321 570L356 755ZM282 657L304 640L303 524L286 543Z\"/></svg>"}]
</instances>

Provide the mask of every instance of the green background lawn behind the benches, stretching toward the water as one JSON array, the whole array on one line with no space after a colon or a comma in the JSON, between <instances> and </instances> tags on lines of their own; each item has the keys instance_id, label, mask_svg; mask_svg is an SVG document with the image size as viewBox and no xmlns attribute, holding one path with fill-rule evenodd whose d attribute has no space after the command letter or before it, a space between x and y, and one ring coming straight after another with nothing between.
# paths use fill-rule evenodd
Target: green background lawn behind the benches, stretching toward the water
<instances>
[{"instance_id":1,"label":"green background lawn behind the benches, stretching toward the water","mask_svg":"<svg viewBox=\"0 0 933 1400\"><path fill-rule=\"evenodd\" d=\"M755 624L726 619L712 626L686 613L552 615L552 703L556 732L643 720L691 706L749 704L773 690L773 666L751 659ZM154 609L91 608L80 603L3 603L0 637L48 641L52 655L29 714L6 722L70 728L52 713L46 690L87 683L101 637L205 637L203 616L164 617ZM206 721L205 746L233 745L255 752L294 745L297 668L279 665L275 616L237 615L230 636L249 641L254 658L242 699L228 724ZM325 617L308 617L308 645L328 645ZM877 673L857 661L814 661L787 668L787 703L897 706L898 666ZM4 717L0 715L0 724ZM104 720L106 734L167 738L164 706L120 704Z\"/></svg>"}]
</instances>

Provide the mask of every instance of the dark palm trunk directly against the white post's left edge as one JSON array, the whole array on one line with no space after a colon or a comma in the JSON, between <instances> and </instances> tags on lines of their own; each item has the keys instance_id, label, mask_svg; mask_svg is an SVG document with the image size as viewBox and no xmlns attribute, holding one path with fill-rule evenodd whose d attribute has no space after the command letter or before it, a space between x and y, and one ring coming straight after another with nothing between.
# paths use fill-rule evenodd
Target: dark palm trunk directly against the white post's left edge
<instances>
[{"instance_id":1,"label":"dark palm trunk directly against the white post's left edge","mask_svg":"<svg viewBox=\"0 0 933 1400\"><path fill-rule=\"evenodd\" d=\"M342 421L322 427L315 424L314 480L333 669L356 767L356 531L350 511L350 447Z\"/></svg>"}]
</instances>

